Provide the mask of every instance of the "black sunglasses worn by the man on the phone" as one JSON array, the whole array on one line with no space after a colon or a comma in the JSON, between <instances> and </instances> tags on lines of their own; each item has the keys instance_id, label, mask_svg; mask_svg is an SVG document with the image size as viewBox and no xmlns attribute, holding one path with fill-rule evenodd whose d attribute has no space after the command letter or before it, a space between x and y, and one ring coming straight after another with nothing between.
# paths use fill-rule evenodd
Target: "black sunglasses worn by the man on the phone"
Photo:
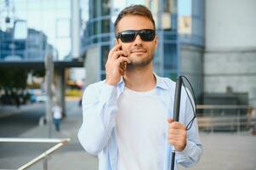
<instances>
[{"instance_id":1,"label":"black sunglasses worn by the man on the phone","mask_svg":"<svg viewBox=\"0 0 256 170\"><path fill-rule=\"evenodd\" d=\"M134 42L137 35L145 41L151 42L156 37L156 31L151 29L143 29L143 30L127 30L117 33L117 39L120 38L122 42Z\"/></svg>"}]
</instances>

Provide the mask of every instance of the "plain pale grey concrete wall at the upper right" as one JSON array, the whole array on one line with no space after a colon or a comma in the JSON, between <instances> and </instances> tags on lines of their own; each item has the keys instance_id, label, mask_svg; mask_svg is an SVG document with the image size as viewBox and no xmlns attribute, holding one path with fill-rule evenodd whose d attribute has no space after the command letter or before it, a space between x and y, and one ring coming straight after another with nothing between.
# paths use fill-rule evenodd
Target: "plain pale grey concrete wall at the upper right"
<instances>
[{"instance_id":1,"label":"plain pale grey concrete wall at the upper right","mask_svg":"<svg viewBox=\"0 0 256 170\"><path fill-rule=\"evenodd\" d=\"M256 88L256 1L205 1L204 93Z\"/></svg>"}]
</instances>

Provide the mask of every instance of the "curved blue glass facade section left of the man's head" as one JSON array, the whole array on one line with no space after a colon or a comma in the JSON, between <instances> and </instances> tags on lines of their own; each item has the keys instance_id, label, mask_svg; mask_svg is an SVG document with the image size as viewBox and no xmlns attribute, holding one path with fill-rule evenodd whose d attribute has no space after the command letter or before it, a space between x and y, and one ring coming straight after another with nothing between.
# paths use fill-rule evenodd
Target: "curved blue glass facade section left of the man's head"
<instances>
[{"instance_id":1,"label":"curved blue glass facade section left of the man's head","mask_svg":"<svg viewBox=\"0 0 256 170\"><path fill-rule=\"evenodd\" d=\"M89 0L88 22L82 39L82 50L87 51L94 45L99 46L100 77L105 78L105 61L111 48L114 35L111 28L111 1Z\"/></svg>"}]
</instances>

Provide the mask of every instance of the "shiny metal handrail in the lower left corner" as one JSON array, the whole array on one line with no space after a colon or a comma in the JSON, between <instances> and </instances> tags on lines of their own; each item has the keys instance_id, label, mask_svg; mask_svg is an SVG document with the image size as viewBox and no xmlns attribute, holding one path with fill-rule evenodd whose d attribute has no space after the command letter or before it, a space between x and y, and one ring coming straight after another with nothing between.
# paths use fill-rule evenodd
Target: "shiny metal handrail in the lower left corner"
<instances>
[{"instance_id":1,"label":"shiny metal handrail in the lower left corner","mask_svg":"<svg viewBox=\"0 0 256 170\"><path fill-rule=\"evenodd\" d=\"M40 144L55 144L50 149L44 151L41 155L37 156L36 158L28 161L26 164L22 165L18 168L18 170L27 169L31 167L38 161L43 159L43 170L48 169L48 156L52 154L55 150L58 150L62 145L67 144L70 139L28 139L28 138L0 138L0 143L40 143ZM56 144L57 143L57 144ZM0 167L1 170L1 167Z\"/></svg>"}]
</instances>

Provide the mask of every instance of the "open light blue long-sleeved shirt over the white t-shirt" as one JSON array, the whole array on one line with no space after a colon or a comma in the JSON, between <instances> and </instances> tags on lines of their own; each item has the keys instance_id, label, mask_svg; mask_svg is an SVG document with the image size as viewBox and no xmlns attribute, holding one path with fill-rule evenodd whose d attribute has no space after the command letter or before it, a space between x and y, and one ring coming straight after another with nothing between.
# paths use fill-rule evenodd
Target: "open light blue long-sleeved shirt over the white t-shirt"
<instances>
[{"instance_id":1,"label":"open light blue long-sleeved shirt over the white t-shirt","mask_svg":"<svg viewBox=\"0 0 256 170\"><path fill-rule=\"evenodd\" d=\"M168 117L173 117L175 82L168 78L156 77L156 94L159 100L168 109ZM117 86L111 86L105 81L96 82L86 88L82 98L82 126L78 132L78 139L82 147L93 155L98 155L100 170L117 170L117 130L116 114L117 99L124 90L121 80ZM188 91L188 90L187 90ZM189 94L191 97L191 94ZM192 99L192 97L191 97ZM193 101L193 100L192 100ZM193 118L190 100L181 90L179 122L187 125ZM138 125L139 126L139 125ZM163 170L171 166L172 145L168 144L168 126L166 127L166 144ZM202 143L199 139L197 120L187 132L185 149L176 151L175 167L177 163L184 167L192 167L202 156Z\"/></svg>"}]
</instances>

